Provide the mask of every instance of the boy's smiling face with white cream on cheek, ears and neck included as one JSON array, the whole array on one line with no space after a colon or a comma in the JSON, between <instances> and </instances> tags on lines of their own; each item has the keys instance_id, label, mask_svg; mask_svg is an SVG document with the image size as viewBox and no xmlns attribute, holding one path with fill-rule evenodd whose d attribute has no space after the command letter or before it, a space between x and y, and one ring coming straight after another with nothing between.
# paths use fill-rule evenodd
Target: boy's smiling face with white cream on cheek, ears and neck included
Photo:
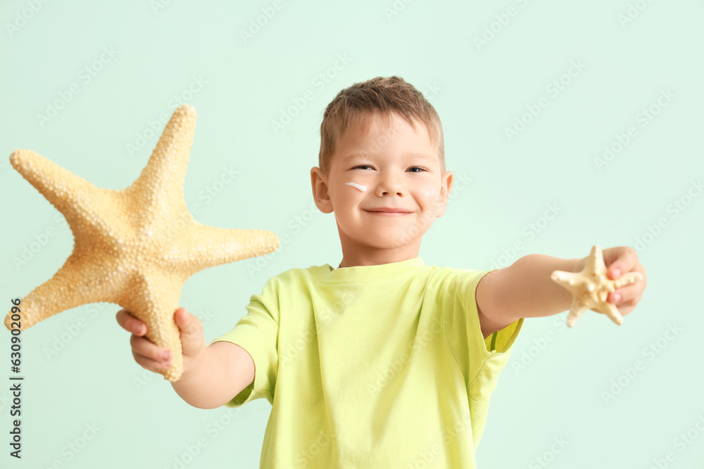
<instances>
[{"instance_id":1,"label":"boy's smiling face with white cream on cheek, ears and neck included","mask_svg":"<svg viewBox=\"0 0 704 469\"><path fill-rule=\"evenodd\" d=\"M453 174L441 171L425 125L416 129L396 113L388 128L375 117L366 135L351 129L337 142L327 177L310 170L315 204L337 219L343 266L417 257L421 237L444 214ZM381 211L393 209L402 212Z\"/></svg>"}]
</instances>

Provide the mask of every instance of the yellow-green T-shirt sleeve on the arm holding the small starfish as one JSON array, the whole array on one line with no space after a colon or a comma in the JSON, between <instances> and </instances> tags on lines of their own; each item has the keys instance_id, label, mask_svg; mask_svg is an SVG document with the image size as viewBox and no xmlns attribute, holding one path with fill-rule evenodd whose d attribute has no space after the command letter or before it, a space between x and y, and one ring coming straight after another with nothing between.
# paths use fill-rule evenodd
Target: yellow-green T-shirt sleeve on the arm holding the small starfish
<instances>
[{"instance_id":1,"label":"yellow-green T-shirt sleeve on the arm holding the small starfish","mask_svg":"<svg viewBox=\"0 0 704 469\"><path fill-rule=\"evenodd\" d=\"M488 401L494 392L523 325L523 318L517 319L484 339L476 293L479 281L491 270L455 269L444 307L448 344L465 375L470 398L479 402Z\"/></svg>"}]
</instances>

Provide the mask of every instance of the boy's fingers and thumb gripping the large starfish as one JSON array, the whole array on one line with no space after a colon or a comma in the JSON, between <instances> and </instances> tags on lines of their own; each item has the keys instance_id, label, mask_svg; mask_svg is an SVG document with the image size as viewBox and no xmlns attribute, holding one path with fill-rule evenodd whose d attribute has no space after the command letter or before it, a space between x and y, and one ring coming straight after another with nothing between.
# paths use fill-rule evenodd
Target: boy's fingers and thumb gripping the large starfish
<instances>
[{"instance_id":1,"label":"boy's fingers and thumb gripping the large starfish","mask_svg":"<svg viewBox=\"0 0 704 469\"><path fill-rule=\"evenodd\" d=\"M154 342L144 337L147 329L144 321L132 316L129 311L120 309L115 314L118 324L132 333L130 345L134 361L149 371L158 373L158 370L171 366L172 352L158 347ZM205 349L203 340L203 325L197 316L189 313L184 307L176 309L174 320L181 334L181 347L183 353L183 372L189 370L192 361Z\"/></svg>"}]
</instances>

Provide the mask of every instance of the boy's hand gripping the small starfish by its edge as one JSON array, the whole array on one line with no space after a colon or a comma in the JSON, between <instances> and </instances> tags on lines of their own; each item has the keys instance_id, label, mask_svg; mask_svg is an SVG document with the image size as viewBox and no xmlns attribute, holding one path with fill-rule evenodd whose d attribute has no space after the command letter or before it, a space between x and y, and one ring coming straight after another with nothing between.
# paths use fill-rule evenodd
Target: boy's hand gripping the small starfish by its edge
<instances>
[{"instance_id":1,"label":"boy's hand gripping the small starfish by its edge","mask_svg":"<svg viewBox=\"0 0 704 469\"><path fill-rule=\"evenodd\" d=\"M638 272L643 276L643 280L617 288L606 298L607 302L615 304L622 316L626 316L633 311L643 297L647 281L646 269L639 262L636 250L627 246L602 250L602 255L606 266L606 276L610 280L615 280L628 272Z\"/></svg>"}]
</instances>

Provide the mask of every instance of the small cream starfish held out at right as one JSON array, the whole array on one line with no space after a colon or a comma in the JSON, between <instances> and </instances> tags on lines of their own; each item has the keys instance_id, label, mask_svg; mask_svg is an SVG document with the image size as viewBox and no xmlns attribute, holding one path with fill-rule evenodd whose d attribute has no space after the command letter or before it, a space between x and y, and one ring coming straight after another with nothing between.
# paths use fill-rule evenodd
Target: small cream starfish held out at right
<instances>
[{"instance_id":1,"label":"small cream starfish held out at right","mask_svg":"<svg viewBox=\"0 0 704 469\"><path fill-rule=\"evenodd\" d=\"M567 326L574 326L579 316L582 316L587 309L609 316L620 326L623 323L623 316L615 304L606 302L608 294L624 285L641 281L643 276L638 272L628 272L615 280L610 280L606 276L601 249L598 245L594 245L581 272L556 270L550 278L572 293L572 306L567 316Z\"/></svg>"}]
</instances>

